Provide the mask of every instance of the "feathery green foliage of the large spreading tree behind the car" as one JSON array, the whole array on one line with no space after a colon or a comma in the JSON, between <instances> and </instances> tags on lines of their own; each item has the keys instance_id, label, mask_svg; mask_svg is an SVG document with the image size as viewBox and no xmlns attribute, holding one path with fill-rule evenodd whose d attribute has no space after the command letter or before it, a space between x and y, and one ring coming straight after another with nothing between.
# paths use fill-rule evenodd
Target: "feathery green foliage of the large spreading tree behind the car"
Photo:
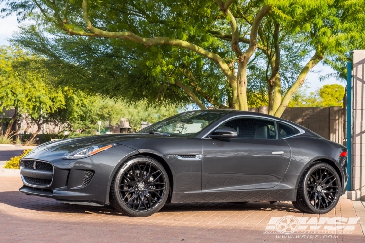
<instances>
[{"instance_id":1,"label":"feathery green foliage of the large spreading tree behind the car","mask_svg":"<svg viewBox=\"0 0 365 243\"><path fill-rule=\"evenodd\" d=\"M123 37L114 38L116 35L89 38L93 33L85 26L81 0L59 0L52 4L48 0L0 2L7 3L2 11L5 15L16 14L19 21L32 20L34 24L22 27L13 43L43 57L42 67L61 87L120 99L126 104L146 102L150 106L174 107L193 104L192 98L175 84L180 81L205 106L232 106L232 84L227 82L217 59L166 43L144 46ZM303 72L305 78L309 69L303 63L314 53L314 65L324 60L336 70L337 78L346 77L346 62L351 59L352 50L364 49L364 0L236 0L229 6L232 16L225 15L211 0L89 0L87 14L95 27L104 31L130 31L141 38L164 36L197 45L221 57L237 74L242 68L237 61L239 54L233 50L230 37L217 33L231 35L230 20L234 17L238 35L250 38L254 19L265 4L271 11L258 29L260 50L256 50L245 70L250 106L268 100L272 60L279 52L282 88L275 97L285 95L295 83L301 86L299 73ZM280 28L275 51L276 24ZM72 32L73 36L65 32ZM244 52L247 41L241 41L239 47ZM267 54L263 55L264 52ZM55 105L67 104L57 97L52 98ZM47 99L37 99L48 104ZM59 111L52 106L46 109L51 113ZM34 114L39 115L39 109Z\"/></svg>"}]
</instances>

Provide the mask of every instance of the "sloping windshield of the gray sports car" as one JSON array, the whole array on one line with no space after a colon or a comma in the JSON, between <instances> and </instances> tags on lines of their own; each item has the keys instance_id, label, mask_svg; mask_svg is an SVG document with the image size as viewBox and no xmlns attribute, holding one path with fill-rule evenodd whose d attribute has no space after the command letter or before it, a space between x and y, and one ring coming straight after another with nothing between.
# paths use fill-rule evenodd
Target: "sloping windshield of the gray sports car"
<instances>
[{"instance_id":1,"label":"sloping windshield of the gray sports car","mask_svg":"<svg viewBox=\"0 0 365 243\"><path fill-rule=\"evenodd\" d=\"M226 114L208 111L189 111L156 122L138 133L165 133L183 137L194 136Z\"/></svg>"}]
</instances>

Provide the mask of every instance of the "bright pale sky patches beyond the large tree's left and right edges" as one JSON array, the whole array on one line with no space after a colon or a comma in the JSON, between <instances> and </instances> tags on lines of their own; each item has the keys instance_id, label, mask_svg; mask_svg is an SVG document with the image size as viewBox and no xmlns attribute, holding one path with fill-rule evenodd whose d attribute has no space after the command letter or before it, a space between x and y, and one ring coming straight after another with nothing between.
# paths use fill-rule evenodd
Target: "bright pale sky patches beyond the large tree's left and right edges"
<instances>
[{"instance_id":1,"label":"bright pale sky patches beyond the large tree's left and right edges","mask_svg":"<svg viewBox=\"0 0 365 243\"><path fill-rule=\"evenodd\" d=\"M0 4L0 9L4 7L4 4ZM9 16L3 19L0 18L0 45L9 45L8 39L11 38L14 32L18 30L18 22L16 16ZM305 84L309 87L307 92L313 92L317 88L327 84L341 84L345 87L345 83L337 81L334 78L329 78L324 81L320 81L319 77L332 73L333 70L324 66L321 63L317 64L307 75Z\"/></svg>"}]
</instances>

